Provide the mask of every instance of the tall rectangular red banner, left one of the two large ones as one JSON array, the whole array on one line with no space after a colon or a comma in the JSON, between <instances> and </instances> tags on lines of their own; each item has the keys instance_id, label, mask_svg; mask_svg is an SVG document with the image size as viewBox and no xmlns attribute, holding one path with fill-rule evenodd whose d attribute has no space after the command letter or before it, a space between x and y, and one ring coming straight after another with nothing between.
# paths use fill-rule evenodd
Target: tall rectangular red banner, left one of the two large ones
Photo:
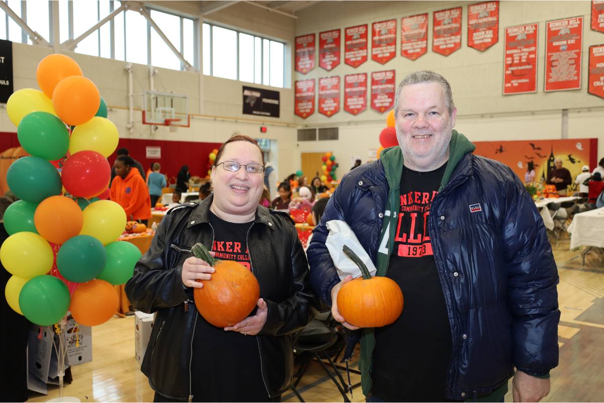
<instances>
[{"instance_id":1,"label":"tall rectangular red banner, left one of the two large ones","mask_svg":"<svg viewBox=\"0 0 604 403\"><path fill-rule=\"evenodd\" d=\"M538 34L537 22L506 28L503 95L537 92Z\"/></svg>"}]
</instances>

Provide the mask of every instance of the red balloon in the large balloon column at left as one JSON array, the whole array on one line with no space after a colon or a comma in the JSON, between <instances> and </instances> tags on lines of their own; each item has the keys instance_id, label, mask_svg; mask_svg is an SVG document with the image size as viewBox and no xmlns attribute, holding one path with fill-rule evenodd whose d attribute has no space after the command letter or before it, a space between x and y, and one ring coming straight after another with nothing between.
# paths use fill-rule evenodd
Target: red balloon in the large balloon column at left
<instances>
[{"instance_id":1,"label":"red balloon in the large balloon column at left","mask_svg":"<svg viewBox=\"0 0 604 403\"><path fill-rule=\"evenodd\" d=\"M76 197L91 198L101 194L109 185L109 179L109 162L96 151L78 151L63 163L63 186Z\"/></svg>"}]
</instances>

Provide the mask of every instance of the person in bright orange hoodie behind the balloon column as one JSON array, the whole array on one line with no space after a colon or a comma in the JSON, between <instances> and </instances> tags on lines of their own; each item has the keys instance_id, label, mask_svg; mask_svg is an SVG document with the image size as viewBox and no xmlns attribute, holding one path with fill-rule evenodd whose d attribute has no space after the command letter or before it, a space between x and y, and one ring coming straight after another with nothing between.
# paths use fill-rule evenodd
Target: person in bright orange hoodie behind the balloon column
<instances>
[{"instance_id":1,"label":"person in bright orange hoodie behind the balloon column","mask_svg":"<svg viewBox=\"0 0 604 403\"><path fill-rule=\"evenodd\" d=\"M140 221L147 225L151 217L151 198L143 177L134 167L134 160L129 156L119 156L114 167L111 200L123 207L128 221Z\"/></svg>"}]
</instances>

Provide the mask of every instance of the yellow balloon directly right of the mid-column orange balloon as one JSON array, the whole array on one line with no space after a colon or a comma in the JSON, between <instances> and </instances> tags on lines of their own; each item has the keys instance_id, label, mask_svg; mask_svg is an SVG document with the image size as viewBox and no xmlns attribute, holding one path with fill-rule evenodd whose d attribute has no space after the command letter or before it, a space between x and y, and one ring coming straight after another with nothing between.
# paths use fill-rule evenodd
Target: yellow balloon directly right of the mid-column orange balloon
<instances>
[{"instance_id":1,"label":"yellow balloon directly right of the mid-column orange balloon","mask_svg":"<svg viewBox=\"0 0 604 403\"><path fill-rule=\"evenodd\" d=\"M125 228L124 209L115 201L97 200L84 209L84 225L80 235L94 236L106 245L117 240Z\"/></svg>"}]
</instances>

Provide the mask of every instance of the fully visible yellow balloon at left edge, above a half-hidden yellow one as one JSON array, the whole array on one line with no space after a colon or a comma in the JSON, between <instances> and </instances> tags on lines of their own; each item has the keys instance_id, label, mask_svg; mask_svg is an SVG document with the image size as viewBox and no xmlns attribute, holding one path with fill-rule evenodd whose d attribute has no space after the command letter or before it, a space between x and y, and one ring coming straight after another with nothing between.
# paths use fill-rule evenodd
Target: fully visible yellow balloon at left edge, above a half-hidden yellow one
<instances>
[{"instance_id":1,"label":"fully visible yellow balloon at left edge, above a half-hidden yellow one","mask_svg":"<svg viewBox=\"0 0 604 403\"><path fill-rule=\"evenodd\" d=\"M0 261L8 273L31 279L48 273L53 267L53 249L37 233L17 232L2 244Z\"/></svg>"}]
</instances>

